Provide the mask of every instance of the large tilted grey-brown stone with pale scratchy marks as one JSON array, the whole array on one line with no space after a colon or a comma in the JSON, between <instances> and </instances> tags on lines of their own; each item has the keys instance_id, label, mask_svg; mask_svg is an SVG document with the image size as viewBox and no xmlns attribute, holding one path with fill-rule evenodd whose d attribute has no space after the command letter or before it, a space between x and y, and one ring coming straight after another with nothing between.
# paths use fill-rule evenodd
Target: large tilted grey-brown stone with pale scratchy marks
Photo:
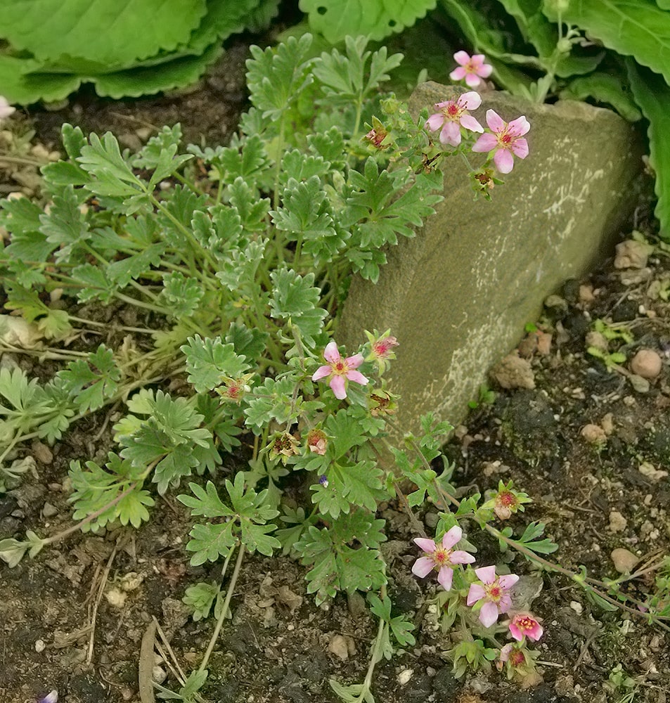
<instances>
[{"instance_id":1,"label":"large tilted grey-brown stone with pale scratchy marks","mask_svg":"<svg viewBox=\"0 0 670 703\"><path fill-rule=\"evenodd\" d=\"M422 84L410 110L460 92ZM507 121L526 115L529 157L515 159L493 202L472 202L462 162L447 162L437 214L415 238L389 248L376 285L352 282L340 322L337 341L349 348L364 341L364 329L390 328L399 340L391 389L401 394L404 430L417 431L427 411L459 423L543 299L610 255L633 207L642 148L620 117L572 101L482 98L472 111L482 124L488 108Z\"/></svg>"}]
</instances>

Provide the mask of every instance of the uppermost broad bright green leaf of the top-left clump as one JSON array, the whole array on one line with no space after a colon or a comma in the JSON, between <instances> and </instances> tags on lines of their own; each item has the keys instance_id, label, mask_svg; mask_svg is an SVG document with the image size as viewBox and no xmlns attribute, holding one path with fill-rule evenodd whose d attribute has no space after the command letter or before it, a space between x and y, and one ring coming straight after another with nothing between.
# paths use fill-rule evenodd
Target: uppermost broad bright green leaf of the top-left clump
<instances>
[{"instance_id":1,"label":"uppermost broad bright green leaf of the top-left clump","mask_svg":"<svg viewBox=\"0 0 670 703\"><path fill-rule=\"evenodd\" d=\"M0 37L39 60L123 66L186 44L206 10L205 0L4 0Z\"/></svg>"}]
</instances>

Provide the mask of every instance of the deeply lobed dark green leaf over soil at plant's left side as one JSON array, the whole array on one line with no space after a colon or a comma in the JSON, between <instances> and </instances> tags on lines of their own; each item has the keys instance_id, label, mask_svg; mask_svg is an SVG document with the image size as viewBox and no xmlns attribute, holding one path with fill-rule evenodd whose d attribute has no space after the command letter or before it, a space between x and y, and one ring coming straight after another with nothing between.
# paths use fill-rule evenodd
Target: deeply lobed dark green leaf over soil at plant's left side
<instances>
[{"instance_id":1,"label":"deeply lobed dark green leaf over soil at plant's left side","mask_svg":"<svg viewBox=\"0 0 670 703\"><path fill-rule=\"evenodd\" d=\"M114 352L101 344L86 359L70 361L58 376L65 388L75 396L80 413L101 408L115 395L121 380L121 370L114 360Z\"/></svg>"}]
</instances>

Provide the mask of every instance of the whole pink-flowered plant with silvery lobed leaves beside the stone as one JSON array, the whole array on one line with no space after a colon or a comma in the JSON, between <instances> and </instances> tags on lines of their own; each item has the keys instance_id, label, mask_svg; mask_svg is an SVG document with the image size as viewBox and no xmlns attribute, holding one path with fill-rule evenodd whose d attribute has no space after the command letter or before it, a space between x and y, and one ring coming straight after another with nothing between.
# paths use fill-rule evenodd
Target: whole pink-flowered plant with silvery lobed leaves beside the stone
<instances>
[{"instance_id":1,"label":"whole pink-flowered plant with silvery lobed leaves beside the stone","mask_svg":"<svg viewBox=\"0 0 670 703\"><path fill-rule=\"evenodd\" d=\"M318 605L368 593L379 621L368 674L362 684L332 685L342 699L373 700L375 664L414 643L413 624L392 614L385 520L376 515L396 498L420 535L413 571L437 571L442 590L430 612L451 633L446 656L459 676L465 662L493 661L508 676L527 675L527 642L542 634L529 610L534 593L513 598L525 577L475 564L472 528L616 602L586 574L537 556L555 549L542 524L518 537L492 526L529 501L512 484L456 501L452 467L438 475L431 464L446 423L424 418L420 437L391 449L396 471L381 465L378 446L397 408L387 371L399 340L361 330L361 347L344 352L331 338L352 275L377 280L384 247L414 236L441 200L446 156L465 157L464 177L489 197L498 174L528 154L527 120L489 110L483 127L469 115L481 102L474 91L413 117L380 93L399 55L347 39L344 53L308 58L310 41L252 47L252 108L230 145L183 150L175 126L132 154L112 134L86 138L65 125L67 160L43 169L46 207L27 198L1 204L9 233L1 349L41 366L39 378L12 357L0 368L1 479L13 486L34 468L26 442L53 444L98 411L116 419L103 456L70 463L79 522L49 537L4 538L0 557L11 567L79 529L141 527L155 491L183 491L179 501L196 521L191 562L221 561L222 574L184 597L195 619L213 611L217 626L198 669L179 693L163 690L168 697L192 700L205 685L243 557L281 552L307 567ZM468 87L485 77L481 57L456 59ZM245 467L231 467L232 451ZM296 472L311 505L284 493ZM415 490L405 496L409 482ZM413 515L427 498L440 511L434 538Z\"/></svg>"}]
</instances>

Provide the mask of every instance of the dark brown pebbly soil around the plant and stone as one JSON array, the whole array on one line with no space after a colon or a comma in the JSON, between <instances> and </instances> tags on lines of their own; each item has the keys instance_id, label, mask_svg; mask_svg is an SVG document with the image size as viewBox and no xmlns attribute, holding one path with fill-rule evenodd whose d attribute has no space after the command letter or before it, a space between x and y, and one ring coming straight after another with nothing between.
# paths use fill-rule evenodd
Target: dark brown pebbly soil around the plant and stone
<instances>
[{"instance_id":1,"label":"dark brown pebbly soil around the plant and stone","mask_svg":"<svg viewBox=\"0 0 670 703\"><path fill-rule=\"evenodd\" d=\"M146 139L144 128L179 121L186 141L224 142L245 107L245 46L233 46L186 94L113 103L82 95L62 110L34 112L37 138L47 150L58 148L60 124L67 121L84 131L111 129L132 147ZM12 177L11 169L6 171L6 189L21 186ZM553 335L549 349L537 348L535 331L520 342L534 388L504 390L492 382L492 404L472 411L445 448L456 465L458 486L484 491L499 479L513 479L534 501L513 517L513 527L545 522L560 545L549 558L569 569L584 565L598 579L618 576L610 558L615 548L638 557L638 569L670 553L665 473L670 305L663 299L669 264L670 257L657 250L643 268L621 271L610 259L588 278L568 281L538 321L540 330ZM595 319L624 325L633 335L633 342L612 342L611 351L619 346L631 359L645 348L661 356L662 371L648 389L633 387L638 382L631 383L626 368L607 370L586 353L585 337ZM501 349L501 358L507 352ZM0 536L20 536L26 529L46 536L71 524L68 463L108 449L107 423L108 413L101 411L51 451L40 444L30 448L37 472L0 494ZM583 436L587 425L600 427L598 441ZM633 690L636 701L666 702L668 634L634 614L600 610L578 586L549 572L542 574L543 592L534 603L545 628L536 647L541 681L524 690L495 669L453 678L443 654L450 645L427 626L434 585L411 574L418 550L411 543L416 535L410 520L399 505L384 508L389 590L397 612L414 621L417 641L378 664L373 686L378 703L605 702L623 701ZM432 534L435 509L429 506L418 517ZM58 689L63 703L138 703L141 641L153 617L182 668L197 666L212 619L193 622L181 598L192 583L217 580L220 565L190 565L184 550L190 528L188 511L167 496L157 499L152 519L139 531L78 533L14 569L0 565L0 700L34 702ZM470 537L477 541L475 529ZM520 556L510 568L531 573ZM343 683L363 681L376 631L363 597L341 595L318 608L306 593L305 571L288 557L247 558L231 604L233 617L210 659L210 679L202 691L207 701L328 703L337 700L328 685L331 676ZM652 571L626 588L643 600L654 591L655 575ZM617 664L634 689L605 688ZM399 677L406 670L411 678ZM165 683L176 688L172 676Z\"/></svg>"}]
</instances>

